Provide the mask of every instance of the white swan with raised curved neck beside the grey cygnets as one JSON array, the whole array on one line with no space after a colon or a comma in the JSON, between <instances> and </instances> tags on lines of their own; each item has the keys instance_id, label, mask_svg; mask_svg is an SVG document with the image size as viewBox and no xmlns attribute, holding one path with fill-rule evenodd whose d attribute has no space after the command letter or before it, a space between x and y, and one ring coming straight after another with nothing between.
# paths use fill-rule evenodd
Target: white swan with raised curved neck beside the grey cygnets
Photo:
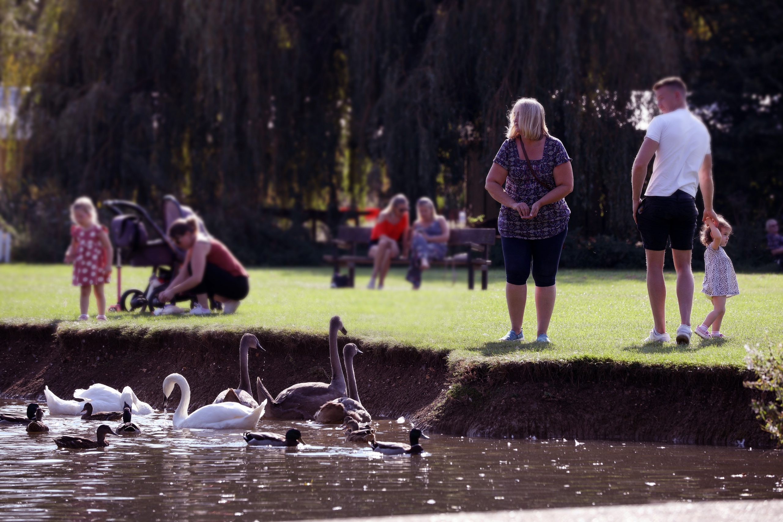
<instances>
[{"instance_id":1,"label":"white swan with raised curved neck beside the grey cygnets","mask_svg":"<svg viewBox=\"0 0 783 522\"><path fill-rule=\"evenodd\" d=\"M179 384L182 398L171 419L175 428L211 428L212 430L252 430L258 424L258 419L264 414L266 401L258 408L250 409L239 402L219 402L208 404L188 415L190 405L190 386L185 377L172 373L163 380L163 409L168 405L168 398L174 385Z\"/></svg>"}]
</instances>

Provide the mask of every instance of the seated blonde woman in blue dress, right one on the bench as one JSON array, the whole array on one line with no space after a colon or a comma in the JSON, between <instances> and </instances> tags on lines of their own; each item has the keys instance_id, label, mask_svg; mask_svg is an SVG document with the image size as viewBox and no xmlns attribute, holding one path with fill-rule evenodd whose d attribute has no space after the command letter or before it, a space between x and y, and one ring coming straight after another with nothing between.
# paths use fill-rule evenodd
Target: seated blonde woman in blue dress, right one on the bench
<instances>
[{"instance_id":1,"label":"seated blonde woman in blue dress, right one on the bench","mask_svg":"<svg viewBox=\"0 0 783 522\"><path fill-rule=\"evenodd\" d=\"M410 239L410 269L406 276L413 284L413 290L421 286L421 271L430 268L430 260L446 257L446 243L449 242L449 224L435 211L435 203L430 198L419 198L416 214Z\"/></svg>"}]
</instances>

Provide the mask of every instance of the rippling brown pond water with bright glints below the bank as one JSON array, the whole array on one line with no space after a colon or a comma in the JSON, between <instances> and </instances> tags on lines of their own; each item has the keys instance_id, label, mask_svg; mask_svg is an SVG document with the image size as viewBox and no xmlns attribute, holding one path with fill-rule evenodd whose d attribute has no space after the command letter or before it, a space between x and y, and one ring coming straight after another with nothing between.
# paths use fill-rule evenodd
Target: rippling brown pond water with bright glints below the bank
<instances>
[{"instance_id":1,"label":"rippling brown pond water with bright glints below the bank","mask_svg":"<svg viewBox=\"0 0 783 522\"><path fill-rule=\"evenodd\" d=\"M0 401L24 415L26 402ZM49 434L0 426L0 520L287 520L702 499L783 498L783 454L751 449L431 434L423 456L384 457L342 431L304 422L300 449L248 447L239 432L175 430L171 414L136 416L143 433L97 450L98 422L50 417ZM114 427L115 424L111 423ZM382 420L380 440L410 424Z\"/></svg>"}]
</instances>

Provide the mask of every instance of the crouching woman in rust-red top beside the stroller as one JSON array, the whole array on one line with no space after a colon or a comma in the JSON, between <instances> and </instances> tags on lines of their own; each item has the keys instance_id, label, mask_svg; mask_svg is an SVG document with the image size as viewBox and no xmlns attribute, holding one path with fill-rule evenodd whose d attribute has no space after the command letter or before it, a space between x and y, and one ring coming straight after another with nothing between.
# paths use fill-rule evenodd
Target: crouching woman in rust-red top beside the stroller
<instances>
[{"instance_id":1,"label":"crouching woman in rust-red top beside the stroller","mask_svg":"<svg viewBox=\"0 0 783 522\"><path fill-rule=\"evenodd\" d=\"M195 216L179 218L171 223L168 237L187 254L179 274L166 290L158 294L158 299L165 303L178 293L190 290L197 294L198 300L191 314L210 313L207 297L222 303L223 313L233 314L250 290L247 271L242 263L217 239L201 236Z\"/></svg>"}]
</instances>

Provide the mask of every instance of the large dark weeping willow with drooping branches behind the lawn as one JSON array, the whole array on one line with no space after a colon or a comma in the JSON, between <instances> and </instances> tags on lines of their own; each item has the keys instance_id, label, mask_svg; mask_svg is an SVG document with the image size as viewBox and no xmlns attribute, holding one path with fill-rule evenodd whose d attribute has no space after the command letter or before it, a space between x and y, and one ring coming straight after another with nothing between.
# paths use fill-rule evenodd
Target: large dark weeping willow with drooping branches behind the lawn
<instances>
[{"instance_id":1,"label":"large dark weeping willow with drooping branches behind the lawn","mask_svg":"<svg viewBox=\"0 0 783 522\"><path fill-rule=\"evenodd\" d=\"M700 81L720 91L738 118L716 59L752 54L747 31L766 9L738 17L735 2L710 0L48 3L57 30L30 82L33 136L15 188L0 193L2 213L28 232L29 257L60 256L74 196L156 207L174 193L254 263L307 261L305 209L328 211L335 225L337 207L396 192L437 196L440 207L491 223L484 177L519 96L543 103L574 158L572 229L635 241L639 92L683 74L698 94ZM772 45L774 30L762 34ZM702 63L713 69L699 72ZM774 94L779 73L767 76L753 92ZM765 129L779 122L776 103ZM286 232L270 208L290 210ZM284 252L294 257L274 257Z\"/></svg>"}]
</instances>

